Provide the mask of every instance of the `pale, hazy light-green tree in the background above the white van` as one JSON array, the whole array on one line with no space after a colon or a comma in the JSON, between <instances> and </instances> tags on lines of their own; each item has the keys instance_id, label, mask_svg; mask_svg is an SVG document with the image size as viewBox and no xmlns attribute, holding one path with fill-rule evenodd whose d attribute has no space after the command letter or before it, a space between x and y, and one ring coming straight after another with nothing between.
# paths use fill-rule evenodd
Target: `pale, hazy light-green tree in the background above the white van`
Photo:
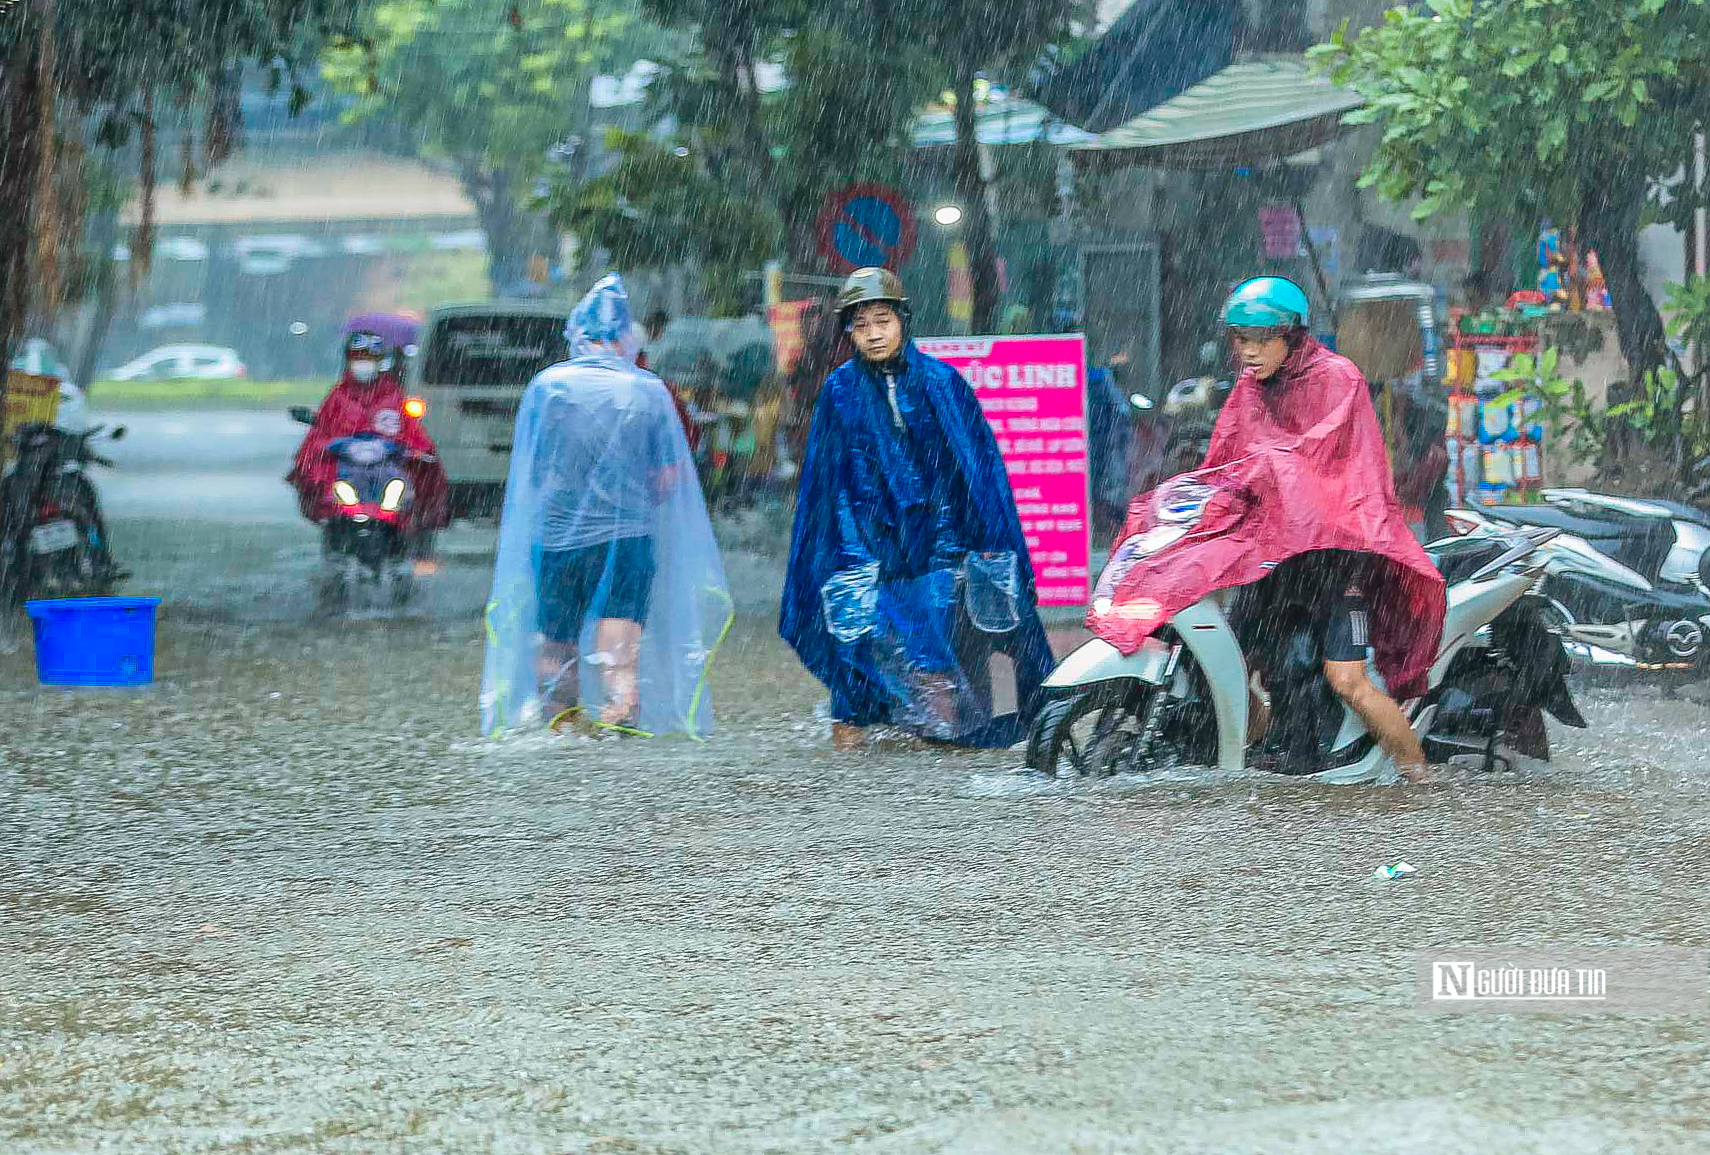
<instances>
[{"instance_id":1,"label":"pale, hazy light-green tree in the background above the white van","mask_svg":"<svg viewBox=\"0 0 1710 1155\"><path fill-rule=\"evenodd\" d=\"M612 0L383 0L323 72L357 96L352 120L383 120L416 152L455 164L498 289L551 245L527 202L556 145L587 164L593 77L658 39L633 3Z\"/></svg>"}]
</instances>

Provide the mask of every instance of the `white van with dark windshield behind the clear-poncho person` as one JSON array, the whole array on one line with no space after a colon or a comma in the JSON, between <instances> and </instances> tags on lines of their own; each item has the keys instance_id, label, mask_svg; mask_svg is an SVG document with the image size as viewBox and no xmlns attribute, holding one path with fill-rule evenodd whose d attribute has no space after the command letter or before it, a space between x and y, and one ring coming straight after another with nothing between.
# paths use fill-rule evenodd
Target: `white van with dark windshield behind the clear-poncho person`
<instances>
[{"instance_id":1,"label":"white van with dark windshield behind the clear-poncho person","mask_svg":"<svg viewBox=\"0 0 1710 1155\"><path fill-rule=\"evenodd\" d=\"M499 512L523 388L569 356L557 301L448 305L428 315L410 394L451 483L451 517Z\"/></svg>"}]
</instances>

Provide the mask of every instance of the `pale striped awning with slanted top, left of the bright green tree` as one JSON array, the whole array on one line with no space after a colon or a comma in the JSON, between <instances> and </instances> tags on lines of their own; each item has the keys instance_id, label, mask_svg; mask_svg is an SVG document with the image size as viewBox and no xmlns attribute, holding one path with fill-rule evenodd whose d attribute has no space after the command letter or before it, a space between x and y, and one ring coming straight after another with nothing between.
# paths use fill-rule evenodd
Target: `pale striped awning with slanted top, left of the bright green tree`
<instances>
[{"instance_id":1,"label":"pale striped awning with slanted top, left of the bright green tree","mask_svg":"<svg viewBox=\"0 0 1710 1155\"><path fill-rule=\"evenodd\" d=\"M1257 166L1334 140L1342 116L1363 103L1303 58L1271 56L1231 63L1069 152L1084 166Z\"/></svg>"}]
</instances>

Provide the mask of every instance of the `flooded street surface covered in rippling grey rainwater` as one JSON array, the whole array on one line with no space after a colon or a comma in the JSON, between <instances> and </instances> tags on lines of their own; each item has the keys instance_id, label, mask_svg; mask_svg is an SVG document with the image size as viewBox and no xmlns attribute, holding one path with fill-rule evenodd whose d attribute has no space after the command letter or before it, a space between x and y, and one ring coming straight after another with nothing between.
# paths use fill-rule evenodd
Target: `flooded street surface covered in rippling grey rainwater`
<instances>
[{"instance_id":1,"label":"flooded street surface covered in rippling grey rainwater","mask_svg":"<svg viewBox=\"0 0 1710 1155\"><path fill-rule=\"evenodd\" d=\"M708 743L484 741L475 560L310 621L303 527L115 520L157 683L0 655L3 1152L1710 1150L1703 1013L1412 992L1710 945L1691 691L1423 789L838 756L735 532Z\"/></svg>"}]
</instances>

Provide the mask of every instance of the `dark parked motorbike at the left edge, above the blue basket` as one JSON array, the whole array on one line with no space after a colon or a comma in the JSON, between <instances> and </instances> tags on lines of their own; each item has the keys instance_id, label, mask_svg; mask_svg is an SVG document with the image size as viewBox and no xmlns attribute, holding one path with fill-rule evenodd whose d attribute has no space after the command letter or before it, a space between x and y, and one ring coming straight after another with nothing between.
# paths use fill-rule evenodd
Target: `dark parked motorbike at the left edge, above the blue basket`
<instances>
[{"instance_id":1,"label":"dark parked motorbike at the left edge, above the blue basket","mask_svg":"<svg viewBox=\"0 0 1710 1155\"><path fill-rule=\"evenodd\" d=\"M113 467L91 448L106 426L67 433L32 423L12 436L0 479L0 609L32 597L99 597L130 577L113 563L89 465ZM118 441L125 426L106 433Z\"/></svg>"}]
</instances>

